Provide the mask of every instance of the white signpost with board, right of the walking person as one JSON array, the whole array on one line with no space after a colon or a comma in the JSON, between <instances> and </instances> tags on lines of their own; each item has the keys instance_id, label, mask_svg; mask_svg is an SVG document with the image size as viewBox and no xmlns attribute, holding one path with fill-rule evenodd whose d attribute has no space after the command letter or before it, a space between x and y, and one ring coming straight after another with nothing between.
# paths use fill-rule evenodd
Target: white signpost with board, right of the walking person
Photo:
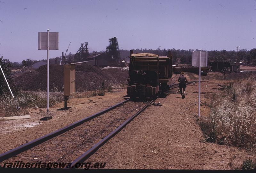
<instances>
[{"instance_id":1,"label":"white signpost with board, right of the walking person","mask_svg":"<svg viewBox=\"0 0 256 173\"><path fill-rule=\"evenodd\" d=\"M201 87L201 66L207 67L207 51L193 51L192 53L192 66L198 67L198 117L200 117L200 87Z\"/></svg>"}]
</instances>

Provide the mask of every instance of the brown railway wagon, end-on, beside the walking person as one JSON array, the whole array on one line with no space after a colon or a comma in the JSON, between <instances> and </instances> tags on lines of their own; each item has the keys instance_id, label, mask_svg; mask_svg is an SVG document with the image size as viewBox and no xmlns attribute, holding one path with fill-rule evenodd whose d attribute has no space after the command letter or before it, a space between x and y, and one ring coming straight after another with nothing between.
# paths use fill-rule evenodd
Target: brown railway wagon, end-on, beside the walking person
<instances>
[{"instance_id":1,"label":"brown railway wagon, end-on, beside the walking person","mask_svg":"<svg viewBox=\"0 0 256 173\"><path fill-rule=\"evenodd\" d=\"M130 51L127 95L135 97L156 97L158 92L169 89L172 77L172 54L167 56Z\"/></svg>"}]
</instances>

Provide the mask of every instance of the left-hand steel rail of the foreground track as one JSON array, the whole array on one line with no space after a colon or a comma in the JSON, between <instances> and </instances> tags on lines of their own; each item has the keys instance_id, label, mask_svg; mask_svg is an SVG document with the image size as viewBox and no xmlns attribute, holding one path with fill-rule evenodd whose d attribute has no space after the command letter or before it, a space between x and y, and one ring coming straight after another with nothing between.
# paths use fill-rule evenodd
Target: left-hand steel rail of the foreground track
<instances>
[{"instance_id":1,"label":"left-hand steel rail of the foreground track","mask_svg":"<svg viewBox=\"0 0 256 173\"><path fill-rule=\"evenodd\" d=\"M58 136L58 135L60 135L62 133L65 133L65 132L67 132L67 131L69 131L69 130L71 130L71 129L73 129L73 128L75 128L75 127L77 127L77 126L79 126L79 125L89 121L89 120L91 120L91 119L94 119L94 118L96 118L96 117L98 117L98 116L100 116L100 115L102 115L102 114L104 114L104 113L106 113L108 111L111 111L112 109L116 108L117 106L122 105L122 104L124 104L124 103L126 103L128 101L130 101L130 98L126 99L126 100L124 100L124 101L122 101L122 102L120 102L120 103L118 103L116 105L113 105L113 106L111 106L111 107L109 107L107 109L104 109L104 110L102 110L102 111L100 111L98 113L90 115L89 117L86 117L84 119L76 121L75 123L72 123L72 124L70 124L70 125L68 125L66 127L63 127L63 128L61 128L59 130L56 130L56 131L54 131L52 133L46 134L46 135L44 135L44 136L42 136L40 138L37 138L37 139L35 139L33 141L30 141L30 142L28 142L26 144L23 144L23 145L21 145L21 146L19 146L17 148L14 148L14 149L9 150L9 151L7 151L5 153L2 153L0 155L0 162L3 162L4 160L9 159L9 158L11 158L14 155L20 154L20 153L22 153L22 152L24 152L24 151L26 151L26 150L28 150L30 148L33 148L33 147L35 147L35 146L37 146L37 145L39 145L39 144L41 144L41 143L43 143L45 141L48 141L48 140L52 139L55 136Z\"/></svg>"}]
</instances>

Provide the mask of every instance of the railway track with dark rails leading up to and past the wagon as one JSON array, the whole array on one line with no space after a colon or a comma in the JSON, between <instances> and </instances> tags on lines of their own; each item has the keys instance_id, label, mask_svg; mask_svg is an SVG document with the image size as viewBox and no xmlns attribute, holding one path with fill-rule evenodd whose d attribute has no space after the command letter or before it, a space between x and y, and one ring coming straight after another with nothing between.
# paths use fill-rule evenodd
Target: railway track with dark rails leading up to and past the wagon
<instances>
[{"instance_id":1,"label":"railway track with dark rails leading up to and past the wagon","mask_svg":"<svg viewBox=\"0 0 256 173\"><path fill-rule=\"evenodd\" d=\"M177 78L177 76L174 76L174 78L175 77ZM176 81L177 80L174 80L174 82L176 82ZM187 82L187 84L193 83L193 82L196 82L196 81ZM177 87L178 87L178 83L172 83L170 85L170 89L177 88ZM12 158L13 156L17 157L17 155L22 154L24 152L28 152L25 155L31 156L31 157L28 157L28 161L29 161L29 159L31 160L32 157L35 157L36 155L38 155L38 154L36 154L36 152L39 152L40 157L42 157L44 159L51 158L51 159L54 159L54 161L58 161L58 162L61 162L61 161L65 162L68 159L70 160L70 158L68 158L68 157L74 158L72 161L71 167L72 166L75 167L75 165L77 163L84 162L91 155L93 155L102 145L104 145L108 140L110 140L113 136L115 136L118 132L120 132L129 122L131 122L132 119L134 119L141 112L143 112L149 105L151 105L156 100L156 98L148 101L146 104L145 103L139 104L140 108L138 108L138 106L136 107L134 105L132 105L132 106L130 105L131 107L135 107L138 109L134 109L133 111L130 110L129 112L132 112L132 116L130 116L129 118L127 118L126 116L120 116L117 119L115 119L115 118L111 119L111 116L108 117L110 124L107 127L103 127L103 129L101 131L99 131L98 133L96 133L96 135L95 134L92 135L92 133L95 133L95 132L87 133L88 128L90 128L91 120L94 120L97 117L101 117L100 115L103 115L105 113L109 113L111 111L112 112L117 111L116 108L121 109L123 107L124 109L129 109L129 106L125 107L125 104L129 105L132 101L130 99L126 99L126 100L124 100L116 105L113 105L103 111L100 111L98 113L90 115L84 119L81 119L75 123L72 123L66 127L63 127L57 131L46 134L40 138L37 138L37 139L30 141L26 144L23 144L17 148L7 151L0 155L0 162L8 160L8 159ZM124 109L123 109L123 111L124 111ZM119 112L121 112L121 111L122 111L122 109L119 110ZM120 124L120 121L122 121L122 124ZM89 122L89 125L87 124L87 126L85 126L85 124L88 122ZM96 124L99 122L100 121L96 121ZM119 123L119 125L117 125L118 123ZM102 123L102 126L103 126L103 124L104 124L104 122ZM84 126L82 126L82 125L84 125ZM111 132L111 133L109 133L109 132ZM87 135L89 134L89 137L87 139L84 139L83 137L81 138L81 136L83 136L84 133L86 133ZM108 133L108 135L104 136L105 133ZM77 136L80 136L80 137L77 137ZM97 138L97 137L101 137L101 139L100 140L93 139L93 138ZM68 150L67 150L67 148L65 148L68 145L67 143L69 143L71 146L73 146L74 144L76 144L76 145L74 145L71 148L68 148ZM80 145L80 143L81 143L81 145ZM44 145L44 146L42 147L42 145ZM88 146L90 146L90 147L88 147ZM46 148L46 149L44 149L44 148ZM49 151L49 148L54 148L54 150L57 150L57 153L62 153L62 155L65 155L66 157L61 158L54 154L52 156L49 155L48 152L45 152L45 151ZM63 149L61 149L61 148L63 148ZM75 151L75 150L81 149L81 148L85 148L86 150ZM36 151L31 151L31 150L36 150ZM71 154L69 152L67 152L70 150L72 151ZM75 155L74 155L74 152L76 152ZM23 158L23 160L24 160L24 156L21 156L21 158ZM15 160L17 160L17 158L15 158Z\"/></svg>"}]
</instances>

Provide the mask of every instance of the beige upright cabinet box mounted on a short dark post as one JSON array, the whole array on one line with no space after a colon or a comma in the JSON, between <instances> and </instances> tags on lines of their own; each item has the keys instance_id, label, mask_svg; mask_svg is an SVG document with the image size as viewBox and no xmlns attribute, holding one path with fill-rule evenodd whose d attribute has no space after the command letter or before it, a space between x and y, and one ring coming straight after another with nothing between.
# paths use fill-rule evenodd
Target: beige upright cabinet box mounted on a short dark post
<instances>
[{"instance_id":1,"label":"beige upright cabinet box mounted on a short dark post","mask_svg":"<svg viewBox=\"0 0 256 173\"><path fill-rule=\"evenodd\" d=\"M76 64L64 65L64 96L75 95L76 92Z\"/></svg>"}]
</instances>

